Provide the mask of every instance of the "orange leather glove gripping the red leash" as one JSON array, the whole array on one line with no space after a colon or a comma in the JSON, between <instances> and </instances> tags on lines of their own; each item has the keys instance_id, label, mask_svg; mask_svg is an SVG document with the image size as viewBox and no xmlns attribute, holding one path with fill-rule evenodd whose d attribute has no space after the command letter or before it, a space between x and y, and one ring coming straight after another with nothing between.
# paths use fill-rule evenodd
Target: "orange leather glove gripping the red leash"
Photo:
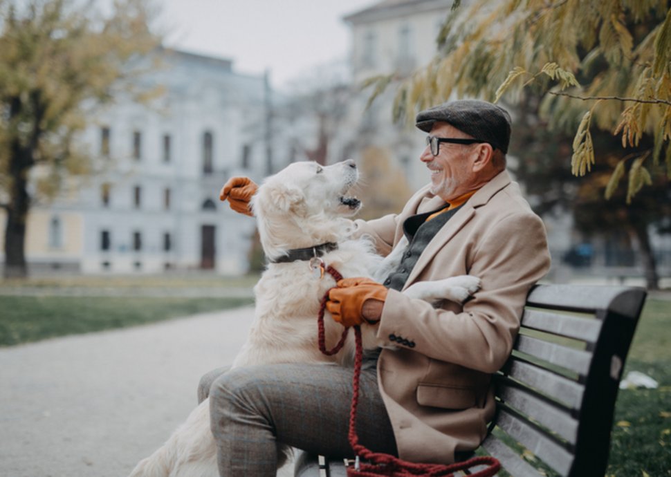
<instances>
[{"instance_id":1,"label":"orange leather glove gripping the red leash","mask_svg":"<svg viewBox=\"0 0 671 477\"><path fill-rule=\"evenodd\" d=\"M369 322L361 313L363 303L369 299L384 302L389 291L381 283L363 277L342 279L335 286L329 291L327 310L346 328Z\"/></svg>"}]
</instances>

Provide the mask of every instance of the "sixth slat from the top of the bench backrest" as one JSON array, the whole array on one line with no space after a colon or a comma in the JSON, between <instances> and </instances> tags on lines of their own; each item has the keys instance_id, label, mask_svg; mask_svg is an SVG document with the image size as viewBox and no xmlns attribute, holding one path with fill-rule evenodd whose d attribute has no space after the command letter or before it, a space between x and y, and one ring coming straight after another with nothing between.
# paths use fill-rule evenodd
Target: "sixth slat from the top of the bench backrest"
<instances>
[{"instance_id":1,"label":"sixth slat from the top of the bench backrest","mask_svg":"<svg viewBox=\"0 0 671 477\"><path fill-rule=\"evenodd\" d=\"M529 449L534 456L539 457L562 476L569 474L573 455L560 446L557 442L544 436L529 422L514 415L506 409L505 405L499 406L497 426L508 433L524 447Z\"/></svg>"}]
</instances>

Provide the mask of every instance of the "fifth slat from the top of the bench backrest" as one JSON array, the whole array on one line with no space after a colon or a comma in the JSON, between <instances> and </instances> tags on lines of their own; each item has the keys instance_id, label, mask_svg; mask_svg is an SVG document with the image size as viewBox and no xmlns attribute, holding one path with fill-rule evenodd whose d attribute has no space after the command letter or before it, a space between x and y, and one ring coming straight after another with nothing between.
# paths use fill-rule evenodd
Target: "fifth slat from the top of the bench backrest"
<instances>
[{"instance_id":1,"label":"fifth slat from the top of the bench backrest","mask_svg":"<svg viewBox=\"0 0 671 477\"><path fill-rule=\"evenodd\" d=\"M550 431L575 444L578 438L578 421L557 404L551 404L520 389L518 384L506 384L505 378L497 381L497 395L508 406L525 415L533 416Z\"/></svg>"}]
</instances>

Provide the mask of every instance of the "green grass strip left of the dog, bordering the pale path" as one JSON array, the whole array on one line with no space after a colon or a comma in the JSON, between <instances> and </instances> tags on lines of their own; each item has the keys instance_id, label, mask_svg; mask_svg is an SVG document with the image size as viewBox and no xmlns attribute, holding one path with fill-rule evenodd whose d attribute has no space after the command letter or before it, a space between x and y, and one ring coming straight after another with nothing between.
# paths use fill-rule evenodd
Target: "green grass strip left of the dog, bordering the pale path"
<instances>
[{"instance_id":1,"label":"green grass strip left of the dog, bordering the pale path","mask_svg":"<svg viewBox=\"0 0 671 477\"><path fill-rule=\"evenodd\" d=\"M3 297L0 346L249 305L251 298Z\"/></svg>"}]
</instances>

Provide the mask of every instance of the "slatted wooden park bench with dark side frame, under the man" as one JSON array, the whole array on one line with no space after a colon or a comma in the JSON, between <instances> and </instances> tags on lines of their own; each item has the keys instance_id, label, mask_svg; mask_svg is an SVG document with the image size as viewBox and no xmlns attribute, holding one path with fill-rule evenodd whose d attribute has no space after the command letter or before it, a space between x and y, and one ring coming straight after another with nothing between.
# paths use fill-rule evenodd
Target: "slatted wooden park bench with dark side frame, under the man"
<instances>
[{"instance_id":1,"label":"slatted wooden park bench with dark side frame, under the man","mask_svg":"<svg viewBox=\"0 0 671 477\"><path fill-rule=\"evenodd\" d=\"M478 453L515 477L603 476L645 295L623 286L533 288L513 355L494 375L497 415ZM346 475L342 459L303 452L295 463L296 477Z\"/></svg>"}]
</instances>

